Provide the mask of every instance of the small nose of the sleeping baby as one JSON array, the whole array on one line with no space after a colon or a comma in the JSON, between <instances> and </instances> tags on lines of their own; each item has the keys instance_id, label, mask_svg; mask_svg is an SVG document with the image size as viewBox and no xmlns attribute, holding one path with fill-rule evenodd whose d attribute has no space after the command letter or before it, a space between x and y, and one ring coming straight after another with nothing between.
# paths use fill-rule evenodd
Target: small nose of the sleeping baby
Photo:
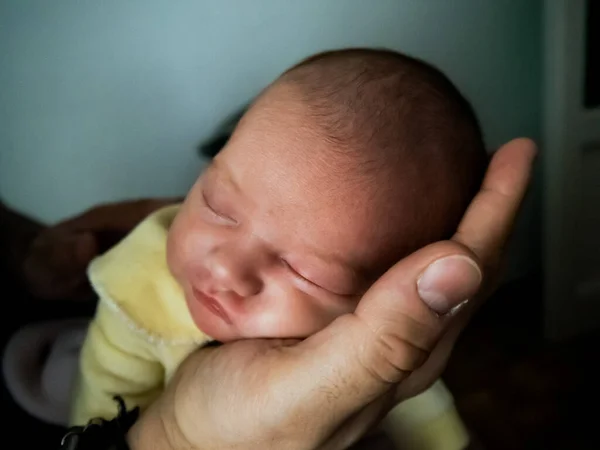
<instances>
[{"instance_id":1,"label":"small nose of the sleeping baby","mask_svg":"<svg viewBox=\"0 0 600 450\"><path fill-rule=\"evenodd\" d=\"M250 258L218 249L209 257L207 266L217 291L234 292L244 298L262 290L258 269Z\"/></svg>"}]
</instances>

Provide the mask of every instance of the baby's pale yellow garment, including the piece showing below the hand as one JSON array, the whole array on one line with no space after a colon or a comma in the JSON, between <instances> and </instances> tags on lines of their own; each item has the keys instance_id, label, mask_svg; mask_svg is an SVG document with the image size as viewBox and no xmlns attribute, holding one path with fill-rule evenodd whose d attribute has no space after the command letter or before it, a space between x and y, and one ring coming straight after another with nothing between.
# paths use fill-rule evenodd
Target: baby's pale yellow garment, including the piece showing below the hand
<instances>
[{"instance_id":1,"label":"baby's pale yellow garment, including the piece showing below the hand","mask_svg":"<svg viewBox=\"0 0 600 450\"><path fill-rule=\"evenodd\" d=\"M179 207L150 215L96 258L88 274L100 300L81 352L71 424L148 406L179 364L210 338L194 324L166 261L169 227ZM450 399L450 401L449 401ZM408 450L460 450L466 432L441 383L396 407L386 430Z\"/></svg>"}]
</instances>

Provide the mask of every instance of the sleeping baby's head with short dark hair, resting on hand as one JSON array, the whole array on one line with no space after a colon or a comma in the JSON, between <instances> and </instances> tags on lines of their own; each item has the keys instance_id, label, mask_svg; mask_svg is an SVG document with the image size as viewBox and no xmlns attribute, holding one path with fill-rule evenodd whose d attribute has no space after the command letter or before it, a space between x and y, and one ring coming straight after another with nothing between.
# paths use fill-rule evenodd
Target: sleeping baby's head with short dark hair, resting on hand
<instances>
[{"instance_id":1,"label":"sleeping baby's head with short dark hair, resting on hand","mask_svg":"<svg viewBox=\"0 0 600 450\"><path fill-rule=\"evenodd\" d=\"M449 237L485 165L477 119L437 69L386 50L322 53L257 98L198 179L169 266L215 339L305 337Z\"/></svg>"}]
</instances>

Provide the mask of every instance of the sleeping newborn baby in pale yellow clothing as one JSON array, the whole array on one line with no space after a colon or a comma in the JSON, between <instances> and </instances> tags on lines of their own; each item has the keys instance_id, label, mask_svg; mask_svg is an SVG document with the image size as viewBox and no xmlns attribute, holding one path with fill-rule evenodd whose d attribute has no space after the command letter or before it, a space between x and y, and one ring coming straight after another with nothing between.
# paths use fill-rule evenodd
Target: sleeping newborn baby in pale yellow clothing
<instances>
[{"instance_id":1,"label":"sleeping newborn baby in pale yellow clothing","mask_svg":"<svg viewBox=\"0 0 600 450\"><path fill-rule=\"evenodd\" d=\"M100 302L73 424L142 409L211 340L302 338L391 265L456 229L486 154L437 69L387 50L318 54L267 87L182 205L89 268Z\"/></svg>"}]
</instances>

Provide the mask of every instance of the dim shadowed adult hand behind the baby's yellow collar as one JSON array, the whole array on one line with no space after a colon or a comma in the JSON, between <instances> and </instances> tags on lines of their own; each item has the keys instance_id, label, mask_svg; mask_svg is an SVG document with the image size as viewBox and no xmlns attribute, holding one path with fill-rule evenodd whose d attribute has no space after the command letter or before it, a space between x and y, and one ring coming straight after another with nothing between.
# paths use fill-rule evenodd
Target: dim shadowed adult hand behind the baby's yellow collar
<instances>
[{"instance_id":1,"label":"dim shadowed adult hand behind the baby's yellow collar","mask_svg":"<svg viewBox=\"0 0 600 450\"><path fill-rule=\"evenodd\" d=\"M86 270L150 213L178 199L145 199L96 206L39 232L22 273L27 289L44 300L78 299L91 294Z\"/></svg>"}]
</instances>

